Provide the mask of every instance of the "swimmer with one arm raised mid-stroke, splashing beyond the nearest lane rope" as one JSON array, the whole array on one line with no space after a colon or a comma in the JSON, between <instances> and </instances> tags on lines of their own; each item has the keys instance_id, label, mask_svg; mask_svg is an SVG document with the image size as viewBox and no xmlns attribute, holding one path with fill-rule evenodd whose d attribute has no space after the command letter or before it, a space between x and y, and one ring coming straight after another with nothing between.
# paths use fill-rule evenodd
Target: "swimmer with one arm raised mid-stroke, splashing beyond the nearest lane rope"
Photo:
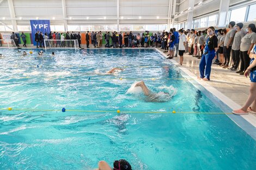
<instances>
[{"instance_id":1,"label":"swimmer with one arm raised mid-stroke, splashing beyond the nearest lane rope","mask_svg":"<svg viewBox=\"0 0 256 170\"><path fill-rule=\"evenodd\" d=\"M144 81L136 83L135 87L141 87L145 96L147 96L148 102L167 102L170 99L170 94L166 92L153 93L145 85Z\"/></svg>"}]
</instances>

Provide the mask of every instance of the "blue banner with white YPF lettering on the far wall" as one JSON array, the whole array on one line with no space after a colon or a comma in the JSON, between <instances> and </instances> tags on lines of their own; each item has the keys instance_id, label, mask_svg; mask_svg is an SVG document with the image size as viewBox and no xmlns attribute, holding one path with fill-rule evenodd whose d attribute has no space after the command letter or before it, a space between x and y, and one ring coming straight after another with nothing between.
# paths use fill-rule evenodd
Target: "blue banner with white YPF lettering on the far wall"
<instances>
[{"instance_id":1,"label":"blue banner with white YPF lettering on the far wall","mask_svg":"<svg viewBox=\"0 0 256 170\"><path fill-rule=\"evenodd\" d=\"M51 31L50 20L30 20L30 24L32 30L33 43L34 46L36 46L35 33L39 31L42 32L43 35L45 35L45 33L49 34Z\"/></svg>"}]
</instances>

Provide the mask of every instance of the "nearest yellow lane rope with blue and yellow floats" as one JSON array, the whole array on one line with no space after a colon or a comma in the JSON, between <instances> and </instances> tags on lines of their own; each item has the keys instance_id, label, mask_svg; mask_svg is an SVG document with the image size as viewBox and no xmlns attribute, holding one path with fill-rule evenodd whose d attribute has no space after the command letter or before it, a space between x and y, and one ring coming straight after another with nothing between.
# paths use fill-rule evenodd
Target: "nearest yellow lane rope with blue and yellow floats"
<instances>
[{"instance_id":1,"label":"nearest yellow lane rope with blue and yellow floats","mask_svg":"<svg viewBox=\"0 0 256 170\"><path fill-rule=\"evenodd\" d=\"M2 108L0 110L9 110L9 108ZM15 109L15 108L11 108L11 110L17 110L17 111L57 111L57 112L62 111L60 109ZM74 111L74 112L117 112L117 111L113 111L113 110L107 111L107 110L72 110L72 109L66 109L65 111ZM232 113L224 113L224 112L173 112L173 111L120 111L120 113L125 113L125 114L212 114L212 115L232 114Z\"/></svg>"}]
</instances>

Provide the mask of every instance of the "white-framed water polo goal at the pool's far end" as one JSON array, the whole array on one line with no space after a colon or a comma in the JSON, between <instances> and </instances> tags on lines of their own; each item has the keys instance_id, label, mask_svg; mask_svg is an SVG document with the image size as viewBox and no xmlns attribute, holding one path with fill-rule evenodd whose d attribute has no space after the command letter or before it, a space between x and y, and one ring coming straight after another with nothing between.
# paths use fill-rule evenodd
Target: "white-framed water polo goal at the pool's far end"
<instances>
[{"instance_id":1,"label":"white-framed water polo goal at the pool's far end","mask_svg":"<svg viewBox=\"0 0 256 170\"><path fill-rule=\"evenodd\" d=\"M78 40L44 40L45 49L48 48L74 48L78 49Z\"/></svg>"}]
</instances>

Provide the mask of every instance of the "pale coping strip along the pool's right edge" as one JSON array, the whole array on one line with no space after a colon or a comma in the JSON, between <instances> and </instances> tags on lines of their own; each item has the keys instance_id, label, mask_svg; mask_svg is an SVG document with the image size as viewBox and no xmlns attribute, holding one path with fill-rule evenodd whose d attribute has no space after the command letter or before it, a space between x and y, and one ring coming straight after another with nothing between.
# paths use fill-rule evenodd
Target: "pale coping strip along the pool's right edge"
<instances>
[{"instance_id":1,"label":"pale coping strip along the pool's right edge","mask_svg":"<svg viewBox=\"0 0 256 170\"><path fill-rule=\"evenodd\" d=\"M166 59L165 54L160 51L160 49L155 48L157 52L162 54L162 56ZM172 62L172 64L178 65L178 62L175 60L168 60L169 62ZM179 66L180 70L182 70L184 73L186 73L189 77L191 77L194 81L196 81L199 85L203 86L207 91L211 93L211 95L217 97L221 102L229 106L230 109L240 109L241 106L237 103L235 103L233 100L225 96L223 93L218 91L215 87L212 87L210 84L206 83L205 81L199 81L197 79L197 76L193 74L191 71L189 71L187 68ZM227 115L231 121L233 121L235 124L237 124L241 129L246 131L248 135L254 138L256 141L256 118L255 116L249 114L249 115L234 115L234 114L225 114Z\"/></svg>"}]
</instances>

